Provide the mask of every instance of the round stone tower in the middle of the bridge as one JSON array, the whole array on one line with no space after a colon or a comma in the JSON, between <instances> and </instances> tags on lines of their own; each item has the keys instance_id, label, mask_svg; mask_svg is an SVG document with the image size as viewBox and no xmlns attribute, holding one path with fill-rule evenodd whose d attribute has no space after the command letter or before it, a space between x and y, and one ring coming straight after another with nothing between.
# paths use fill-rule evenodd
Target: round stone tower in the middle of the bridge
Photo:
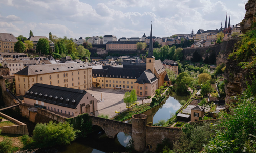
<instances>
[{"instance_id":1,"label":"round stone tower in the middle of the bridge","mask_svg":"<svg viewBox=\"0 0 256 153\"><path fill-rule=\"evenodd\" d=\"M146 123L147 116L135 114L132 116L132 138L134 149L143 152L146 149Z\"/></svg>"}]
</instances>

